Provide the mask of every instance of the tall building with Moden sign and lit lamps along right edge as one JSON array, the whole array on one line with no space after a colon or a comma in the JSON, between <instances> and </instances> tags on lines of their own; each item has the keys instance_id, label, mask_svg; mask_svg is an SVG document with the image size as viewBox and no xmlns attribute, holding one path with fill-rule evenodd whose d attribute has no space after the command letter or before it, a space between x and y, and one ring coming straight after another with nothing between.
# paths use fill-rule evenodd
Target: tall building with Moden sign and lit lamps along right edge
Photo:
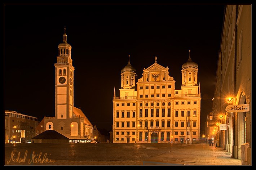
<instances>
[{"instance_id":1,"label":"tall building with Moden sign and lit lamps along right edge","mask_svg":"<svg viewBox=\"0 0 256 170\"><path fill-rule=\"evenodd\" d=\"M251 165L251 5L226 5L213 98L216 146Z\"/></svg>"}]
</instances>

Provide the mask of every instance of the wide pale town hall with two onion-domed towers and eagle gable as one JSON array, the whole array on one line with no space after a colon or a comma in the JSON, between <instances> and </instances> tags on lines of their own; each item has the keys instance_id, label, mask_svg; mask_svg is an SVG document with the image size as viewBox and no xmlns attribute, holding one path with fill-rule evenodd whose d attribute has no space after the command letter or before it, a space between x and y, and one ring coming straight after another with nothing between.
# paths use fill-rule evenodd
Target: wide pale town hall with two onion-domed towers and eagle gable
<instances>
[{"instance_id":1,"label":"wide pale town hall with two onion-domed towers and eagle gable","mask_svg":"<svg viewBox=\"0 0 256 170\"><path fill-rule=\"evenodd\" d=\"M119 97L114 89L114 143L197 143L200 135L200 84L198 64L190 57L181 67L181 89L169 68L155 62L136 70L128 60L121 70ZM135 86L136 84L137 86Z\"/></svg>"}]
</instances>

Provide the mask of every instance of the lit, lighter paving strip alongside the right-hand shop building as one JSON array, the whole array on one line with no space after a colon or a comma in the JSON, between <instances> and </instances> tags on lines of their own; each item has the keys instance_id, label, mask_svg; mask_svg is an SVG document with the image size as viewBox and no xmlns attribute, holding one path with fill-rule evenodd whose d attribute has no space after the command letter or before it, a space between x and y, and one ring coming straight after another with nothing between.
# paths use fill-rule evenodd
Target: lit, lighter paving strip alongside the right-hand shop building
<instances>
[{"instance_id":1,"label":"lit, lighter paving strip alongside the right-hand shop building","mask_svg":"<svg viewBox=\"0 0 256 170\"><path fill-rule=\"evenodd\" d=\"M232 154L220 147L208 144L184 144L184 147L170 151L144 165L242 165L241 160L231 158Z\"/></svg>"}]
</instances>

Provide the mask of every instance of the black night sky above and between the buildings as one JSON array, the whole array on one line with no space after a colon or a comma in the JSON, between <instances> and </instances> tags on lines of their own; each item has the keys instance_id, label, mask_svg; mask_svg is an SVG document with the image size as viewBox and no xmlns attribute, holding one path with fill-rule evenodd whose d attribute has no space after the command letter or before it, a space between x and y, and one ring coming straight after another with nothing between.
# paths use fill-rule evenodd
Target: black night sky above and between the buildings
<instances>
[{"instance_id":1,"label":"black night sky above and between the buildings","mask_svg":"<svg viewBox=\"0 0 256 170\"><path fill-rule=\"evenodd\" d=\"M224 5L4 5L4 109L54 116L58 44L72 46L74 106L110 130L114 86L130 62L137 80L157 62L181 89L181 66L198 63L201 133L212 111Z\"/></svg>"}]
</instances>

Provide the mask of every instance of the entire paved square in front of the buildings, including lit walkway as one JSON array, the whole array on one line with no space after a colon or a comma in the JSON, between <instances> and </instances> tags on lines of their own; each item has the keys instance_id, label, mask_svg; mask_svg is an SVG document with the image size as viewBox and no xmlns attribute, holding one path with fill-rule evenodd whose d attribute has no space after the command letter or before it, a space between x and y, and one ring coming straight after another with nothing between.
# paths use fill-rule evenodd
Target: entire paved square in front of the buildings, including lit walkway
<instances>
[{"instance_id":1,"label":"entire paved square in front of the buildings, including lit walkway","mask_svg":"<svg viewBox=\"0 0 256 170\"><path fill-rule=\"evenodd\" d=\"M241 165L208 144L5 144L4 165Z\"/></svg>"}]
</instances>

